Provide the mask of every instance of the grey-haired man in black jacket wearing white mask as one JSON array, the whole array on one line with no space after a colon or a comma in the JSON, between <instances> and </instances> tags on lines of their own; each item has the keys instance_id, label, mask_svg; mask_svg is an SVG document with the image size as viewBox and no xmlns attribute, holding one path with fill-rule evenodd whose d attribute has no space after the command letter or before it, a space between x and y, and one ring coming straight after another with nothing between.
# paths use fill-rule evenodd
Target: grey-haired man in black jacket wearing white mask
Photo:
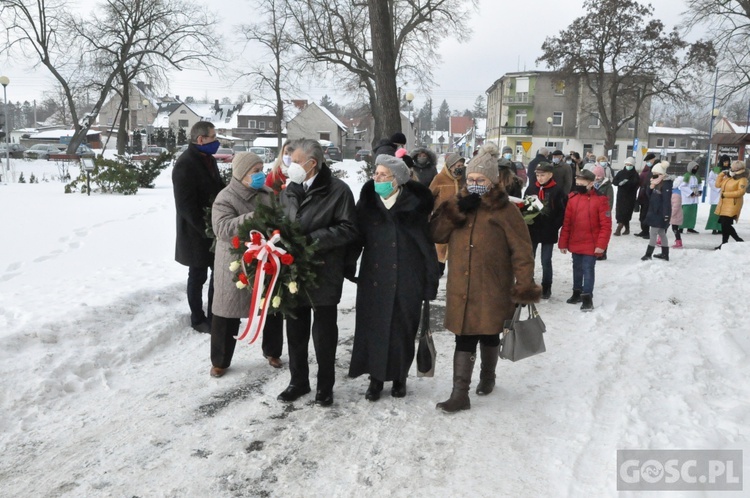
<instances>
[{"instance_id":1,"label":"grey-haired man in black jacket wearing white mask","mask_svg":"<svg viewBox=\"0 0 750 498\"><path fill-rule=\"evenodd\" d=\"M289 149L291 183L282 191L280 200L289 219L297 220L310 242L317 242L317 257L322 264L318 287L306 296L305 305L294 310L296 318L287 318L291 381L278 399L294 401L310 392L307 348L312 312L312 336L318 360L315 403L330 406L336 380L337 305L344 285L347 246L357 238L354 196L346 183L332 175L316 140L295 140Z\"/></svg>"}]
</instances>

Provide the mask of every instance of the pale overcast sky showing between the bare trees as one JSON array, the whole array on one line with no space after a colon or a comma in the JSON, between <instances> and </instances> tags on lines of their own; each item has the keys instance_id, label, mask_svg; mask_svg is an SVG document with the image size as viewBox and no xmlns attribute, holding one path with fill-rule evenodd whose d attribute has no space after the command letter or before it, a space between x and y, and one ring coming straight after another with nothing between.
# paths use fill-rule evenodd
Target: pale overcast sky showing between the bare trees
<instances>
[{"instance_id":1,"label":"pale overcast sky showing between the bare trees","mask_svg":"<svg viewBox=\"0 0 750 498\"><path fill-rule=\"evenodd\" d=\"M84 11L94 8L97 0L78 0ZM570 22L583 15L582 0L527 0L511 2L504 0L480 0L479 9L469 23L471 38L459 44L446 33L446 41L441 46L443 62L433 68L436 86L431 92L435 112L446 99L451 109L466 109L474 105L478 95L504 73L516 70L534 69L535 60L541 54L545 37L555 35ZM655 16L668 26L678 25L685 9L684 0L653 0ZM240 12L248 12L247 0L216 0L206 3L221 19L222 29L231 33L238 22L243 22ZM251 21L248 19L247 21ZM435 29L442 29L436 26ZM691 37L692 38L692 37ZM0 60L0 73L11 80L8 86L8 99L11 101L40 100L42 92L53 87L53 79L46 69L32 70L14 61ZM539 68L544 69L544 68ZM309 87L307 98L319 101L329 94L335 102L347 103L352 97L336 92L333 82L330 85ZM414 109L419 109L428 97L412 88L415 94ZM174 72L170 79L170 95L185 98L208 97L221 99L229 97L234 101L246 92L246 86L231 86L228 79L211 76L206 72Z\"/></svg>"}]
</instances>

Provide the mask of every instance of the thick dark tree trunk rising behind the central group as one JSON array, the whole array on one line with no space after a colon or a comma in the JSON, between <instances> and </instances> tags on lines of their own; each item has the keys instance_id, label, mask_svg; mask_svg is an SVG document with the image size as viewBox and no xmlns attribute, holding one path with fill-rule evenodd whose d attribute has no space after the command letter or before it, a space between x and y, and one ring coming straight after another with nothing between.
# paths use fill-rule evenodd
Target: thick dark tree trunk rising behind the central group
<instances>
[{"instance_id":1,"label":"thick dark tree trunk rising behind the central group","mask_svg":"<svg viewBox=\"0 0 750 498\"><path fill-rule=\"evenodd\" d=\"M370 33L372 36L372 62L375 74L376 140L389 137L401 130L396 87L396 47L393 39L392 0L368 0Z\"/></svg>"}]
</instances>

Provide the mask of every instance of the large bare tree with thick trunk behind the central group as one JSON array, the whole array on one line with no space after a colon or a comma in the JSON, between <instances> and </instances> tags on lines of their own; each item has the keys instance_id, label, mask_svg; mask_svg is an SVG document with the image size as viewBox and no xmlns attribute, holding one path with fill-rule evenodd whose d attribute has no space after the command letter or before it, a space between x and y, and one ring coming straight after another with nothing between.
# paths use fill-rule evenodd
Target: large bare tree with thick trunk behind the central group
<instances>
[{"instance_id":1,"label":"large bare tree with thick trunk behind the central group","mask_svg":"<svg viewBox=\"0 0 750 498\"><path fill-rule=\"evenodd\" d=\"M411 82L424 92L431 88L432 67L440 61L439 42L445 33L465 39L476 0L286 0L286 4L296 24L294 41L307 62L318 74L335 73L342 88L366 93L377 140L401 128L399 87Z\"/></svg>"}]
</instances>

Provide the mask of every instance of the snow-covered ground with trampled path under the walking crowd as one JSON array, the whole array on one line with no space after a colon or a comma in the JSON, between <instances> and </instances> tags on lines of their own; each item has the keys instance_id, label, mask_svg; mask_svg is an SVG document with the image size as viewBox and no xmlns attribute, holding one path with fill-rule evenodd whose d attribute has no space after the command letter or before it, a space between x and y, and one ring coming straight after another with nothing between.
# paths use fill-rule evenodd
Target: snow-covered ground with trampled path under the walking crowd
<instances>
[{"instance_id":1,"label":"snow-covered ground with trampled path under the walking crowd","mask_svg":"<svg viewBox=\"0 0 750 498\"><path fill-rule=\"evenodd\" d=\"M357 164L343 168L357 195ZM741 449L750 476L747 243L713 251L718 237L701 231L671 261L641 262L643 239L613 237L588 314L565 303L570 259L556 252L539 305L547 353L501 361L486 397L473 394L477 365L472 409L452 416L435 410L452 383L445 280L436 376L377 403L365 378L346 377L347 282L334 405L287 405L288 370L259 344L209 377L209 337L189 327L173 260L170 173L127 197L0 186L1 496L618 496L618 449ZM750 207L737 227L750 240L748 220Z\"/></svg>"}]
</instances>

